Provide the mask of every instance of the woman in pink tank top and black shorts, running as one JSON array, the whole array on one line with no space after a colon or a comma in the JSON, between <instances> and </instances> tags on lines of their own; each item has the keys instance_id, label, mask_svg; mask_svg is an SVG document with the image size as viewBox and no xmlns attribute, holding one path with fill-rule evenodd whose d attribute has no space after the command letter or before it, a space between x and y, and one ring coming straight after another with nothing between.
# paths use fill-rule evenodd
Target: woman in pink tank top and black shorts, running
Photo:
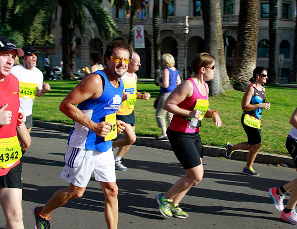
<instances>
[{"instance_id":1,"label":"woman in pink tank top and black shorts, running","mask_svg":"<svg viewBox=\"0 0 297 229\"><path fill-rule=\"evenodd\" d=\"M208 53L197 54L188 68L193 77L174 89L163 105L163 109L174 114L166 133L175 156L186 170L186 174L167 192L156 195L159 211L167 218L189 217L179 203L203 177L203 148L199 135L202 118L212 118L217 127L222 124L219 113L208 108L208 85L205 82L214 77L214 63L215 58ZM193 123L190 126L192 118L197 118L196 126Z\"/></svg>"}]
</instances>

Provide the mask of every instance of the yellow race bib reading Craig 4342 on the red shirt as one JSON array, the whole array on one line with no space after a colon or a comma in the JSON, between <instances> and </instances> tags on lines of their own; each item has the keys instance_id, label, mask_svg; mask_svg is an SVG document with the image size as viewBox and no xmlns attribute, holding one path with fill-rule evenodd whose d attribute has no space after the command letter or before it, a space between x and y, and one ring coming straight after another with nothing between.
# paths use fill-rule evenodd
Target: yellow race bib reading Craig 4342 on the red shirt
<instances>
[{"instance_id":1,"label":"yellow race bib reading Craig 4342 on the red shirt","mask_svg":"<svg viewBox=\"0 0 297 229\"><path fill-rule=\"evenodd\" d=\"M22 150L17 136L0 139L0 168L13 166L22 157Z\"/></svg>"}]
</instances>

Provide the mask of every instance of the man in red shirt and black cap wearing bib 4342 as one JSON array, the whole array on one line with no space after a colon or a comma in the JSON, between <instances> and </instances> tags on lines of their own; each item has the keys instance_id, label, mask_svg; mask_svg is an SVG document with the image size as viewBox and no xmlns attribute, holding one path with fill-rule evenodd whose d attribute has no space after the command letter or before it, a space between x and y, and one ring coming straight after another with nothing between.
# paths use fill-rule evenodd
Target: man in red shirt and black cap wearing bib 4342
<instances>
[{"instance_id":1,"label":"man in red shirt and black cap wearing bib 4342","mask_svg":"<svg viewBox=\"0 0 297 229\"><path fill-rule=\"evenodd\" d=\"M0 37L0 204L6 227L24 229L22 212L22 151L17 139L16 128L26 120L19 113L19 83L10 74L14 58L23 56L11 40Z\"/></svg>"}]
</instances>

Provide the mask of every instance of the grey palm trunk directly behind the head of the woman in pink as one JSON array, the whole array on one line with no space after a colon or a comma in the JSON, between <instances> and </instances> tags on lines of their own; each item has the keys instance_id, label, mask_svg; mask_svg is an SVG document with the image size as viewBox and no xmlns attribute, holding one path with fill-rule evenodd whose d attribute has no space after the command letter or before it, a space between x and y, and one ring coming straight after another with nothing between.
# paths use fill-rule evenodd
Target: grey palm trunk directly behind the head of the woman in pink
<instances>
[{"instance_id":1,"label":"grey palm trunk directly behind the head of the woman in pink","mask_svg":"<svg viewBox=\"0 0 297 229\"><path fill-rule=\"evenodd\" d=\"M214 74L214 79L207 82L209 85L209 96L222 94L224 92L218 60L216 1L217 0L201 1L204 23L205 52L216 58L215 65L217 69Z\"/></svg>"}]
</instances>

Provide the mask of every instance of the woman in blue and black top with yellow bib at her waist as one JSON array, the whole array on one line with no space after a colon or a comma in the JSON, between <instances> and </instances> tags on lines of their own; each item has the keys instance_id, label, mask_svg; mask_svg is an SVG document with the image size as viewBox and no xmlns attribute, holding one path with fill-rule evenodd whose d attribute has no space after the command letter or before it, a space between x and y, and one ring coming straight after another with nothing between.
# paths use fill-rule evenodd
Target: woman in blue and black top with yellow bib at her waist
<instances>
[{"instance_id":1,"label":"woman in blue and black top with yellow bib at her waist","mask_svg":"<svg viewBox=\"0 0 297 229\"><path fill-rule=\"evenodd\" d=\"M259 173L252 169L252 164L256 159L257 153L261 147L261 116L262 110L270 109L270 103L265 102L266 94L263 83L267 81L267 69L264 67L256 67L253 70L253 76L250 78L250 84L247 87L242 100L242 125L247 133L247 142L242 142L236 145L231 143L226 144L226 156L231 157L234 150L249 150L247 154L247 165L243 173L251 176L258 176Z\"/></svg>"}]
</instances>

